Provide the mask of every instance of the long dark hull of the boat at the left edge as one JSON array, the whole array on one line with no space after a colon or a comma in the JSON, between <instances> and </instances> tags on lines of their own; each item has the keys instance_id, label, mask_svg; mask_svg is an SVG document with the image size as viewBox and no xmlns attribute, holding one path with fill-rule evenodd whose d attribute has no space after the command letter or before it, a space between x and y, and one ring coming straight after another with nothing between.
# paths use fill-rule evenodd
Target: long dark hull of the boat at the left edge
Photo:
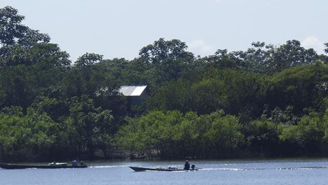
<instances>
[{"instance_id":1,"label":"long dark hull of the boat at the left edge","mask_svg":"<svg viewBox=\"0 0 328 185\"><path fill-rule=\"evenodd\" d=\"M80 165L77 167L72 167L71 165L23 165L23 164L7 164L0 163L0 168L3 169L72 169L72 168L87 168L87 165Z\"/></svg>"}]
</instances>

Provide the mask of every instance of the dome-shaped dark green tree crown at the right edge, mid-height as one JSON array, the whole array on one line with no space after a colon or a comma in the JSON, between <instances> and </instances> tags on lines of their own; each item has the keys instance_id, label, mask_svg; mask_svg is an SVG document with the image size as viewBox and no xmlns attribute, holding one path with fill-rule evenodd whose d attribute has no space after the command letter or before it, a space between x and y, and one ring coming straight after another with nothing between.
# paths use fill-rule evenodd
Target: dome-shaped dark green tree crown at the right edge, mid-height
<instances>
[{"instance_id":1,"label":"dome-shaped dark green tree crown at the right edge, mid-height","mask_svg":"<svg viewBox=\"0 0 328 185\"><path fill-rule=\"evenodd\" d=\"M316 63L286 69L273 76L273 87L269 94L271 105L284 107L292 105L296 114L311 107L322 109L323 99L328 96L326 65Z\"/></svg>"}]
</instances>

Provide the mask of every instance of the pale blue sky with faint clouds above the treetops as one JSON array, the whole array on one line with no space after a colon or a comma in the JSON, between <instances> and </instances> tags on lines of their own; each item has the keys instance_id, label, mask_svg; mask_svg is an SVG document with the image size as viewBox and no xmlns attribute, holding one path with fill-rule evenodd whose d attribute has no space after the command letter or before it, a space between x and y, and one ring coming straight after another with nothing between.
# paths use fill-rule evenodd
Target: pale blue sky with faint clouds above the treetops
<instances>
[{"instance_id":1,"label":"pale blue sky with faint clouds above the treetops","mask_svg":"<svg viewBox=\"0 0 328 185\"><path fill-rule=\"evenodd\" d=\"M179 39L201 57L293 39L321 54L328 42L326 0L1 0L5 6L72 61L86 52L132 60L159 38Z\"/></svg>"}]
</instances>

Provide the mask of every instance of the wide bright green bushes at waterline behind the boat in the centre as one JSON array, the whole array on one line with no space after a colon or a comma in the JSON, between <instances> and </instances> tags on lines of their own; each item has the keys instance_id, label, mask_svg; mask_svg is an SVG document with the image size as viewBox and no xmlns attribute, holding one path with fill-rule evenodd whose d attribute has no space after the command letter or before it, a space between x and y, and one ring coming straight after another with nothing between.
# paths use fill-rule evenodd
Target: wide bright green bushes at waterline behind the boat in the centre
<instances>
[{"instance_id":1,"label":"wide bright green bushes at waterline behind the boat in the centre","mask_svg":"<svg viewBox=\"0 0 328 185\"><path fill-rule=\"evenodd\" d=\"M238 118L223 112L197 116L176 110L151 111L127 121L115 136L117 144L132 152L156 149L162 159L234 155L243 139ZM213 149L215 153L207 153Z\"/></svg>"}]
</instances>

